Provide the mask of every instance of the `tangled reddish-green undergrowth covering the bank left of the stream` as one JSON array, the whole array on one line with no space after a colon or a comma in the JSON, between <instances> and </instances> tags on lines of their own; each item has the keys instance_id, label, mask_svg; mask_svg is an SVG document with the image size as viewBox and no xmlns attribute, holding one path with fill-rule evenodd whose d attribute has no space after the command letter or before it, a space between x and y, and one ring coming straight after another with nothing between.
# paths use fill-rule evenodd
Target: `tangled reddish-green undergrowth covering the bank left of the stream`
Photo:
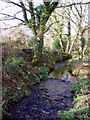
<instances>
[{"instance_id":1,"label":"tangled reddish-green undergrowth covering the bank left of the stream","mask_svg":"<svg viewBox=\"0 0 90 120\"><path fill-rule=\"evenodd\" d=\"M67 54L43 49L38 65L32 65L33 49L26 48L20 40L2 44L2 111L9 115L8 108L26 96L30 88L54 68L56 61L67 59Z\"/></svg>"}]
</instances>

